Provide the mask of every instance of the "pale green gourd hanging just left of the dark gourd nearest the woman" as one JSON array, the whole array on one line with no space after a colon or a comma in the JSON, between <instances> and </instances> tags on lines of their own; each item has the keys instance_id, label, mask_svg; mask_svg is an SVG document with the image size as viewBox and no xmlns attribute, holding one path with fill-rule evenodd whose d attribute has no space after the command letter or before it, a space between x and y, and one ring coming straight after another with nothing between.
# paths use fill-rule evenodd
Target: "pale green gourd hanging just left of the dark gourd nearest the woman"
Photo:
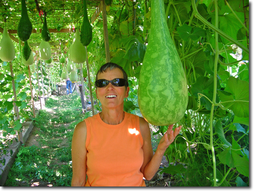
<instances>
[{"instance_id":1,"label":"pale green gourd hanging just left of the dark gourd nearest the woman","mask_svg":"<svg viewBox=\"0 0 256 192\"><path fill-rule=\"evenodd\" d=\"M80 41L79 30L75 32L75 42L71 45L70 57L74 63L84 63L86 61L86 48Z\"/></svg>"}]
</instances>

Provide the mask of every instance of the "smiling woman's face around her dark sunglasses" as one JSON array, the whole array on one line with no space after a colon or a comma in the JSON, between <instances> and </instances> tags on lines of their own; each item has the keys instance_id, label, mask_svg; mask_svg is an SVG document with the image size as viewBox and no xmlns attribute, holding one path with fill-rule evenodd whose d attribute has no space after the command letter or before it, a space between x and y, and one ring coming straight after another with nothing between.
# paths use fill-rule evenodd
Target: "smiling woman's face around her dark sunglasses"
<instances>
[{"instance_id":1,"label":"smiling woman's face around her dark sunglasses","mask_svg":"<svg viewBox=\"0 0 256 192\"><path fill-rule=\"evenodd\" d=\"M105 79L111 81L116 78L124 78L123 72L118 68L98 74L98 80ZM123 107L124 98L128 96L128 93L129 87L125 89L125 86L116 87L111 83L104 88L96 88L97 98L100 100L102 107L107 108Z\"/></svg>"}]
</instances>

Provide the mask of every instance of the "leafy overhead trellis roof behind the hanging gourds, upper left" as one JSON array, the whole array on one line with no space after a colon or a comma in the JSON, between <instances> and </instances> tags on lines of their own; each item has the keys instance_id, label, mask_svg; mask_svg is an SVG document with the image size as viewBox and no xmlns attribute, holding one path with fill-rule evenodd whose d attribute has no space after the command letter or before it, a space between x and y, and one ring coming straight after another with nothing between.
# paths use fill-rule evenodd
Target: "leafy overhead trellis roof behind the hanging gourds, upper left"
<instances>
[{"instance_id":1,"label":"leafy overhead trellis roof behind the hanging gourds, upper left","mask_svg":"<svg viewBox=\"0 0 256 192\"><path fill-rule=\"evenodd\" d=\"M102 20L99 6L101 0L87 0L87 12L89 19ZM120 2L121 3L121 2ZM121 5L120 5L121 6ZM114 7L118 9L119 4ZM82 0L26 0L26 7L29 19L32 23L32 34L28 40L29 46L33 49L41 42L41 28L43 16L47 15L47 26L51 34L49 41L51 46L58 46L61 43L68 44L73 37L75 28L80 28L83 21ZM107 15L114 15L114 9L110 9ZM98 13L98 14L97 14ZM12 40L18 43L17 25L21 17L20 0L0 0L0 34L4 26L7 27ZM37 30L36 30L37 29ZM38 30L39 29L39 30Z\"/></svg>"}]
</instances>

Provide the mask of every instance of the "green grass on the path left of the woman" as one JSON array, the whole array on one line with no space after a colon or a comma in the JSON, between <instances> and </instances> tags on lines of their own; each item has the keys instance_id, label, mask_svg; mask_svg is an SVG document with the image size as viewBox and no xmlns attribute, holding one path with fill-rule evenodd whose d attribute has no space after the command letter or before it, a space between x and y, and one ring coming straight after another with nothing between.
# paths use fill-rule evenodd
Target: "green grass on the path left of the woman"
<instances>
[{"instance_id":1,"label":"green grass on the path left of the woman","mask_svg":"<svg viewBox=\"0 0 256 192\"><path fill-rule=\"evenodd\" d=\"M79 95L52 96L35 118L39 146L22 146L4 186L70 186L71 142L75 125L85 118ZM88 114L87 114L88 115Z\"/></svg>"}]
</instances>

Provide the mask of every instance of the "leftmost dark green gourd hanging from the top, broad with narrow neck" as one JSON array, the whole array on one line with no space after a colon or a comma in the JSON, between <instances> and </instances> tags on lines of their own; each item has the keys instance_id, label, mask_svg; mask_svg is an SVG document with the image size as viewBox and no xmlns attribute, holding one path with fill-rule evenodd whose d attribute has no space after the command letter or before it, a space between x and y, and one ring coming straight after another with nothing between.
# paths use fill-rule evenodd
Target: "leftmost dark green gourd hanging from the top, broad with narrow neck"
<instances>
[{"instance_id":1,"label":"leftmost dark green gourd hanging from the top, broad with narrow neck","mask_svg":"<svg viewBox=\"0 0 256 192\"><path fill-rule=\"evenodd\" d=\"M32 33L32 24L26 10L26 0L21 0L21 18L18 22L17 34L21 41L25 42Z\"/></svg>"}]
</instances>

